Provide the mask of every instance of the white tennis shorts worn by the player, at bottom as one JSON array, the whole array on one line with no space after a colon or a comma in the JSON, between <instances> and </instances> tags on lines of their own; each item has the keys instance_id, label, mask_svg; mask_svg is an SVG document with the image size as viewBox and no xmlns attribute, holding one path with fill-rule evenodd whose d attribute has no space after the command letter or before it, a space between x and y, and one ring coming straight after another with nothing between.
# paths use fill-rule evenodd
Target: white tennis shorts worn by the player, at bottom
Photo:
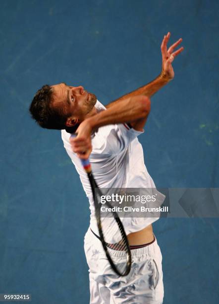
<instances>
[{"instance_id":1,"label":"white tennis shorts worn by the player, at bottom","mask_svg":"<svg viewBox=\"0 0 219 304\"><path fill-rule=\"evenodd\" d=\"M131 250L132 266L126 277L110 267L101 241L88 229L84 249L89 266L90 304L162 304L164 298L162 254L157 239ZM125 261L123 251L109 249L116 263Z\"/></svg>"}]
</instances>

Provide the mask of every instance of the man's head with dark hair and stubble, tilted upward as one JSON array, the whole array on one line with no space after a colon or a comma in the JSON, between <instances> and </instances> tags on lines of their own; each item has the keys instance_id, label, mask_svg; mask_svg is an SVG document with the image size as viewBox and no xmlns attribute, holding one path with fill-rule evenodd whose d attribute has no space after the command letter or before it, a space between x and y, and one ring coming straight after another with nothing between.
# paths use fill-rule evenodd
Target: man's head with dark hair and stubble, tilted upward
<instances>
[{"instance_id":1,"label":"man's head with dark hair and stubble, tilted upward","mask_svg":"<svg viewBox=\"0 0 219 304\"><path fill-rule=\"evenodd\" d=\"M65 129L78 125L94 114L97 98L82 86L69 86L62 82L44 85L35 94L30 113L37 123L47 129Z\"/></svg>"}]
</instances>

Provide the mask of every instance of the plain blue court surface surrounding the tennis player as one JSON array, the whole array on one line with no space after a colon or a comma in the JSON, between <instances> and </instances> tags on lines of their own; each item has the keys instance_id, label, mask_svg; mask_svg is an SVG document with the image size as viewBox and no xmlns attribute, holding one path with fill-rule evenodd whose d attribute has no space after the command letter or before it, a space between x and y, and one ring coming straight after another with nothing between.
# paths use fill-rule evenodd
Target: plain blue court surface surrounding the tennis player
<instances>
[{"instance_id":1,"label":"plain blue court surface surrounding the tennis player","mask_svg":"<svg viewBox=\"0 0 219 304\"><path fill-rule=\"evenodd\" d=\"M210 5L211 4L211 5ZM159 187L219 187L219 2L1 0L0 293L33 304L89 302L88 201L59 131L28 107L43 84L82 84L107 104L161 71L161 41L183 38L175 78L139 137ZM164 304L219 303L219 220L161 219Z\"/></svg>"}]
</instances>

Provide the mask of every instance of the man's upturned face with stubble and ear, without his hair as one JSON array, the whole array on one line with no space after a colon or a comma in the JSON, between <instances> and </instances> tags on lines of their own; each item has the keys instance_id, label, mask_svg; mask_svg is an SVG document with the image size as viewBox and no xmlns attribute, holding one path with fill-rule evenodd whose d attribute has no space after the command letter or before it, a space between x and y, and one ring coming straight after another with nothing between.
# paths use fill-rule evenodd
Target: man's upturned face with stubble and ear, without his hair
<instances>
[{"instance_id":1,"label":"man's upturned face with stubble and ear, without his hair","mask_svg":"<svg viewBox=\"0 0 219 304\"><path fill-rule=\"evenodd\" d=\"M52 87L53 106L61 108L64 113L70 113L66 122L67 126L72 126L78 121L84 120L94 110L97 97L85 91L83 86L59 83L52 85Z\"/></svg>"}]
</instances>

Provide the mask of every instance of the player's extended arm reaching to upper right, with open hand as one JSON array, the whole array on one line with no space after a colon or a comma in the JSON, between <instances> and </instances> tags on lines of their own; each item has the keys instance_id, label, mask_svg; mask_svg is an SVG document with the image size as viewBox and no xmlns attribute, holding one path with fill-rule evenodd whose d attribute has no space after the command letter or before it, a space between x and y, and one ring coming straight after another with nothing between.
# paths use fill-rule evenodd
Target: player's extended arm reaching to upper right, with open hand
<instances>
[{"instance_id":1,"label":"player's extended arm reaching to upper right, with open hand","mask_svg":"<svg viewBox=\"0 0 219 304\"><path fill-rule=\"evenodd\" d=\"M114 103L120 102L121 100L137 95L145 95L151 97L174 77L172 62L174 58L183 51L183 47L173 52L174 49L182 42L182 39L180 38L174 44L172 44L167 50L167 43L169 41L169 37L170 37L170 33L168 32L167 35L164 36L164 39L161 44L161 53L162 53L161 74L156 79L149 82L148 84L110 102L106 106L106 108L110 108Z\"/></svg>"}]
</instances>

